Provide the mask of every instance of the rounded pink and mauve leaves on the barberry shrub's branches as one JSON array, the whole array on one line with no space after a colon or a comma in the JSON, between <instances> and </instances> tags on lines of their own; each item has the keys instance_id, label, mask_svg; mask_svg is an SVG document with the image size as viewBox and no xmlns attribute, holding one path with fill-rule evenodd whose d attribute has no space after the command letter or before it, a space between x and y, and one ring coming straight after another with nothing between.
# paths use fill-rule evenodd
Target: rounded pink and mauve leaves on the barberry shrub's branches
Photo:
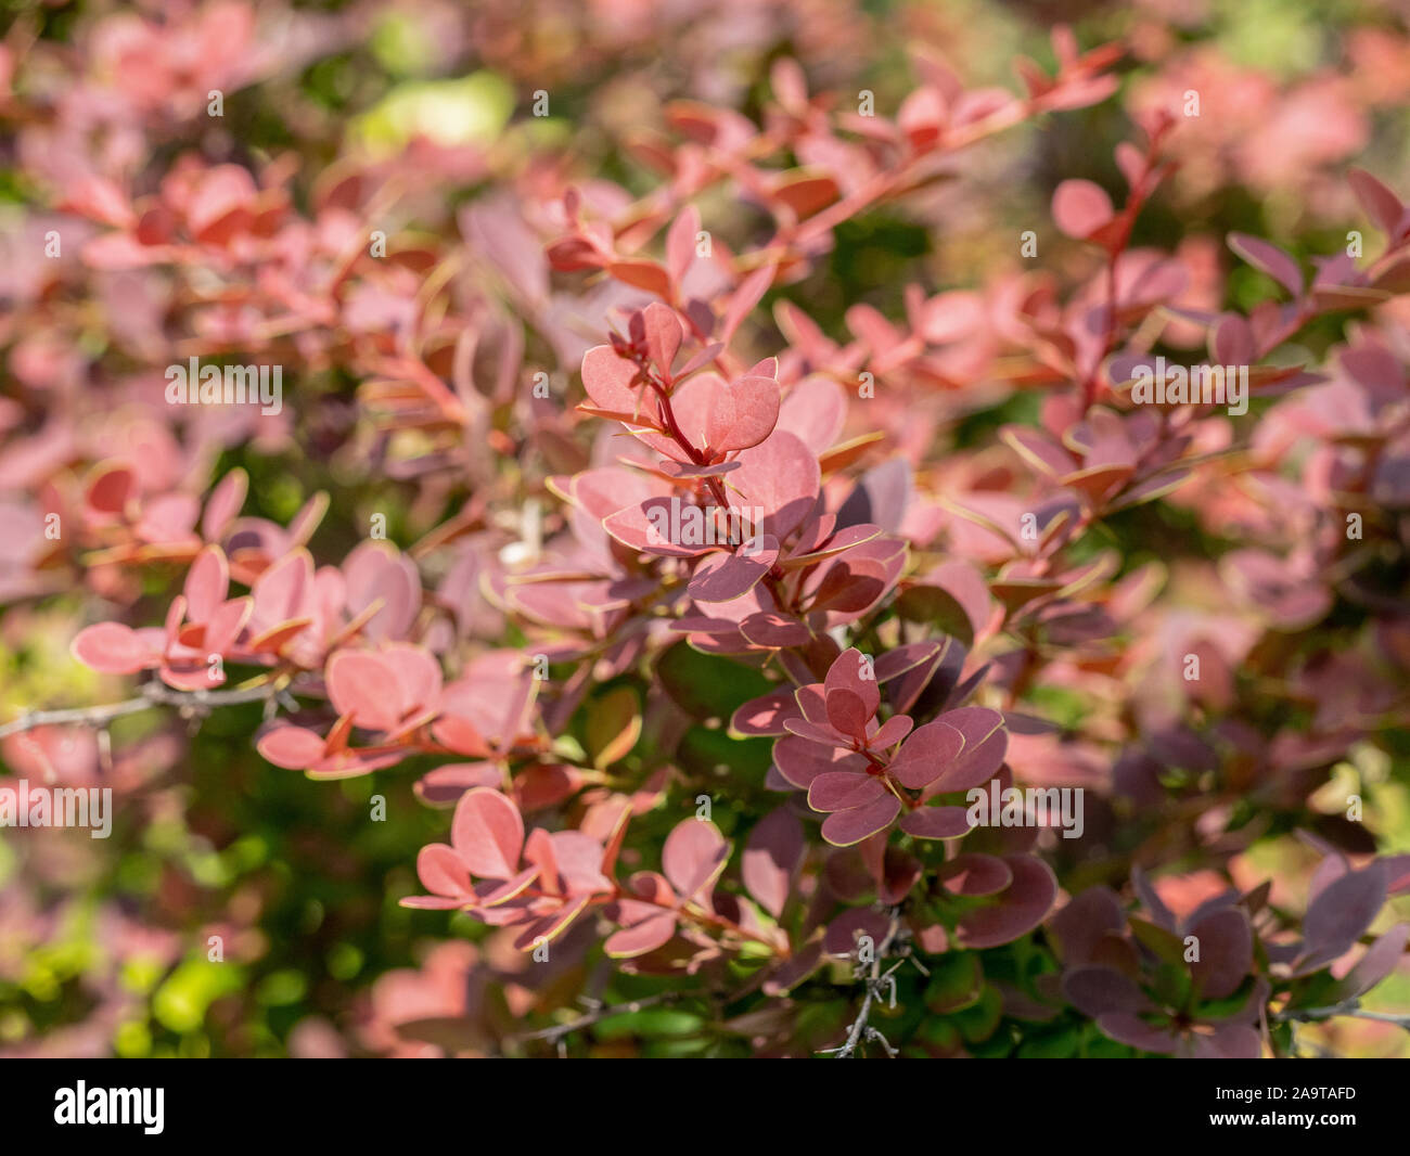
<instances>
[{"instance_id":1,"label":"rounded pink and mauve leaves on the barberry shrub's branches","mask_svg":"<svg viewBox=\"0 0 1410 1156\"><path fill-rule=\"evenodd\" d=\"M193 97L179 69L141 76L133 65L151 35L114 31L104 51L127 78L124 109L140 110L144 131L159 134ZM164 35L186 45L180 52L158 47L179 56L213 35L244 41L250 30L217 10ZM1055 76L1021 65L1024 96L967 92L922 54L921 86L891 118L838 111L808 93L790 61L773 70L761 124L678 102L666 114L675 138L649 133L633 142L661 178L650 197L633 200L602 180L502 176L517 180L517 196L471 204L460 231L502 285L503 302L470 279L447 278L436 307L422 292L424 273L460 238L446 248L393 242L386 262L365 255L367 223L395 199L386 192L391 165L330 172L306 217L286 187L293 172L279 164L252 175L186 156L155 192L134 193L116 171L87 171L66 120L28 133L31 155L52 145L52 176L65 187L56 210L93 228L80 271L34 273L25 303L35 317L52 276L130 278L125 285L141 286L137 300L182 319L182 357L240 350L310 374L345 365L364 378L360 399L379 433L433 438L431 453L392 457L393 476L417 479L431 498L461 475L484 482L484 492L409 554L367 543L340 565L316 565L307 543L326 502L314 499L286 527L241 519L245 481L234 472L203 505L178 485L183 467L241 440L245 426L213 430L200 424L206 417L183 416L178 445L165 433L175 419L158 409L159 375L142 374L118 383L145 407L107 427L127 443L120 457L113 441L75 436L68 419L41 429L23 453L6 447L0 516L23 533L7 536L0 582L41 589L37 575L68 560L97 592L131 602L133 571L189 562L162 627L90 626L75 641L79 658L110 674L157 671L190 691L220 687L227 663L247 665L257 681L326 701L258 740L266 758L313 777L365 774L412 756L471 760L440 765L419 784L426 801L455 812L451 843L419 859L430 894L407 902L512 926L520 947L563 936L592 912L615 928L608 952L639 969L694 970L753 942L776 957L766 990L784 991L823 954L852 952L859 933L881 942L890 916L877 908L916 895L962 901L940 922L919 905L907 911L924 950L1010 942L1048 918L1059 891L1034 853L1036 832L970 832L955 797L991 778L1089 785L1183 822L1189 801L1172 802L1165 773L1230 764L1220 795L1201 801L1201 825L1184 826L1191 842L1232 854L1237 840L1217 829L1231 799L1252 787L1269 806L1301 808L1304 773L1403 706L1396 681L1410 668L1410 632L1378 591L1362 592L1372 626L1361 653L1275 667L1290 701L1317 703L1311 733L1263 734L1244 723L1248 689L1232 674L1265 633L1325 616L1345 585L1328 575L1342 561L1347 513L1379 513L1393 533L1410 506L1410 347L1394 312L1410 288L1410 210L1399 197L1354 172L1351 187L1386 247L1363 265L1341 254L1318 259L1311 278L1273 245L1230 237L1232 252L1287 300L1265 302L1246 317L1221 313L1221 295L1200 283L1187 254L1131 248L1136 214L1169 178L1170 156L1189 147L1162 102L1141 117L1144 145L1117 152L1128 186L1120 209L1090 182L1056 190L1059 230L1093 257L1076 288L1050 272L1003 273L980 289L933 296L911 285L904 321L853 306L843 343L781 300L774 320L787 344L761 359L740 352L753 347L746 321L757 319L766 293L809 276L838 224L926 190L959 149L994 131L1114 90L1104 69L1115 49L1080 54L1066 32L1053 48ZM265 49L261 68L272 66L269 56ZM231 87L248 79L226 78ZM79 90L79 103L99 109L93 85ZM1213 118L1197 127L1218 131ZM766 164L781 152L798 166ZM402 164L410 178L462 179L489 172L492 161L471 149L419 148ZM694 202L726 182L764 210L773 231L740 254L716 235L713 255L702 258ZM510 207L515 200L522 206ZM178 289L155 288L158 271L175 271ZM603 276L564 292L550 272ZM1371 310L1373 320L1325 367L1258 364L1318 317L1348 309ZM152 309L114 313L124 348L157 365L168 351ZM526 400L525 324L546 338L560 368L581 368L587 402L575 413ZM584 341L584 328L602 340ZM63 331L45 319L35 333L14 351L18 376L30 388L76 395L82 372L59 352ZM1215 364L1252 367L1256 396L1286 396L1246 447L1208 410L1131 407L1135 367L1151 359L1156 340L1186 348L1204 341ZM866 430L849 437L859 409L849 396L862 374L885 388L866 407ZM995 378L1045 391L1039 424L1004 429L1001 458L935 461L936 430L979 403L970 399L983 392L976 381ZM509 427L495 417L506 405L516 419ZM23 417L0 412L7 430ZM574 440L592 422L626 437L599 434L585 462ZM506 537L488 512L491 499L522 495L494 471L484 476L486 443L505 455L534 450L556 465L546 489L564 499L565 516L551 541L527 544L527 565L502 561L502 547L526 543ZM159 453L147 454L152 444ZM901 455L849 479L847 468L881 444ZM1249 467L1230 496L1235 448ZM80 485L63 468L73 460L92 462ZM39 495L39 505L28 495ZM1073 558L1101 519L1156 499L1189 503L1210 529L1258 540L1220 561L1224 585L1242 601L1232 622L1152 610L1158 578L1115 578L1121 558L1112 551ZM80 534L38 547L39 515L59 509ZM721 530L732 516L763 515L743 541L728 533L705 544L663 541L654 533L656 513L680 519L687 510ZM1036 536L1025 533L1026 515ZM416 560L437 548L453 561L430 592ZM248 594L231 596L233 582ZM530 646L481 651L461 665L464 641L494 643L502 630L501 619L481 617L481 591L529 632ZM845 646L893 608L904 630L874 663ZM953 637L936 639L936 623ZM777 739L767 785L787 799L753 826L739 857L747 901L726 874L730 846L695 819L666 840L660 871L619 881L627 823L661 802L671 777L623 794L601 768L574 765L551 749L592 678L632 671L681 634L780 680L776 694L732 720L737 734ZM1166 664L1191 648L1206 663L1206 678L1180 688L1175 709L1167 671L1142 636L1159 640ZM532 654L572 663L575 672L564 687L540 687L529 674ZM1159 670L1152 675L1142 664ZM1087 734L1059 734L1012 709L1045 685L1097 703ZM967 705L981 691L1005 709ZM367 742L354 746L357 736ZM526 830L534 812L546 826ZM1105 837L1114 816L1094 815L1093 835ZM807 837L814 823L819 840ZM983 850L962 851L966 837ZM922 851L925 840L942 840L943 857ZM1225 897L1177 923L1135 875L1151 915L1138 923L1112 894L1084 892L1052 923L1066 967L1053 998L1146 1050L1248 1052L1256 1047L1249 1025L1268 998L1286 997L1293 981L1344 957L1385 894L1403 890L1399 877L1378 883L1375 864L1354 870L1331 849L1327 861L1337 866L1324 871L1303 942L1261 936L1269 959L1262 971L1252 921L1268 912L1256 895ZM1358 881L1354 919L1332 919L1347 905L1342 890L1352 890L1332 877ZM819 890L823 899L812 898ZM1151 978L1169 936L1187 932L1208 942L1197 995L1246 995L1218 1025L1191 1021ZM1355 980L1338 988L1342 998L1394 964L1403 950L1396 935L1368 950Z\"/></svg>"}]
</instances>

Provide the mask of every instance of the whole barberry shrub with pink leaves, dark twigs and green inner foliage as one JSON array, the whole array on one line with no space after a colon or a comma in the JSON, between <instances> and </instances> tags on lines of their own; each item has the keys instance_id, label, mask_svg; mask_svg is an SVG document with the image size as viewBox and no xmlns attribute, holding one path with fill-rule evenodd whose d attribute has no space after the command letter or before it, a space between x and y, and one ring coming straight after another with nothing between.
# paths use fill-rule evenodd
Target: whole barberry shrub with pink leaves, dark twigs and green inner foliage
<instances>
[{"instance_id":1,"label":"whole barberry shrub with pink leaves, dark twigs and green inner foliage","mask_svg":"<svg viewBox=\"0 0 1410 1156\"><path fill-rule=\"evenodd\" d=\"M102 678L10 702L6 764L141 812L213 773L183 723L230 711L310 806L423 808L378 854L444 942L306 1053L1277 1057L1406 1026L1362 1002L1410 939L1397 193L1313 156L1355 242L1220 252L1182 183L1221 142L1193 65L1122 87L1127 47L1065 28L1018 89L911 45L905 92L815 90L814 44L632 124L582 96L630 68L603 39L558 61L565 144L508 27L464 31L498 73L393 92L336 156L317 124L278 154L192 127L305 63L243 4L99 21L59 97L11 32L0 598ZM193 83L221 42L243 65ZM976 158L1117 103L1110 161L986 216ZM1296 187L1230 156L1204 185ZM987 221L973 276L904 255L952 214ZM164 967L214 960L164 935Z\"/></svg>"}]
</instances>

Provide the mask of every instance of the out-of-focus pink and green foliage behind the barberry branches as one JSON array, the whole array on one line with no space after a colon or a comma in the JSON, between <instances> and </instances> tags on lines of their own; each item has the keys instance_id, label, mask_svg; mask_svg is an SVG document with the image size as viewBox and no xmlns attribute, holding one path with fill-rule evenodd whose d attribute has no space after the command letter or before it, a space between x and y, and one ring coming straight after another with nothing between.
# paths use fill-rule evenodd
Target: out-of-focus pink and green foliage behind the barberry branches
<instances>
[{"instance_id":1,"label":"out-of-focus pink and green foliage behind the barberry branches","mask_svg":"<svg viewBox=\"0 0 1410 1156\"><path fill-rule=\"evenodd\" d=\"M458 210L506 172L523 179L534 165L561 165L646 187L623 141L658 125L673 99L757 116L780 56L795 56L815 92L869 87L878 107L894 109L914 83L914 45L943 54L967 83L1014 87L1017 54L1050 61L1055 20L1070 21L1083 44L1128 44L1117 97L990 141L966 155L969 179L839 228L826 275L809 283L819 324L836 331L857 302L897 316L918 269L939 288L979 283L1011 258L1019 230L1046 224L1058 180L1112 186L1112 148L1131 114L1189 89L1201 116L1173 138L1182 168L1142 216L1136 242L1208 271L1207 296L1218 292L1213 271L1231 230L1299 254L1340 247L1358 213L1349 162L1410 189L1404 3L7 0L0 718L130 691L69 654L97 613L96 592L70 568L34 565L16 544L41 462L94 457L94 444L113 440L141 447L173 479L202 479L197 492L243 467L245 512L279 523L326 489L334 502L317 541L333 557L360 540L369 510L410 541L446 509L448 484L416 479L406 462L417 447L378 440L357 405L358 382L336 367L300 385L309 392L298 414L286 406L282 422L258 427L240 416L193 420L179 447L117 417L93 386L130 372L134 350L161 355L171 286L158 272L76 268L83 224L62 204L89 173L123 172L141 186L188 152L252 168L288 158L296 197L313 203L338 179L400 172L413 192L399 202L398 227L455 235ZM223 92L220 118L204 114L212 89ZM539 89L551 93L546 118L527 116ZM54 227L65 235L58 262L42 254ZM1238 266L1227 300L1251 305L1265 289L1262 275ZM1200 292L1196 282L1190 305ZM1314 328L1304 340L1335 336ZM37 434L37 414L69 422L72 440L61 447ZM991 437L1000 420L977 414L959 437ZM1170 520L1138 523L1146 541L1198 553L1193 520L1149 517ZM154 575L152 591L169 578ZM255 753L259 720L257 705L199 727L134 715L113 727L116 760L76 729L0 746L6 780L102 782L118 797L107 840L0 830L0 1054L422 1056L494 1050L515 1029L527 1000L522 956L468 921L451 918L447 932L444 915L398 906L417 891L415 850L446 826L415 798L415 775L309 782ZM1376 784L1383 853L1410 850L1406 739L1389 736L1390 757L1368 749L1347 768ZM385 822L368 820L376 794ZM1248 874L1276 873L1296 890L1314 859L1292 839L1269 839L1249 853ZM224 945L221 963L207 959L212 936ZM1402 969L1373 1005L1407 1004ZM599 1046L664 1054L674 1029L668 1015L637 1019ZM1404 1033L1389 1025L1308 1031L1340 1053L1406 1053Z\"/></svg>"}]
</instances>

